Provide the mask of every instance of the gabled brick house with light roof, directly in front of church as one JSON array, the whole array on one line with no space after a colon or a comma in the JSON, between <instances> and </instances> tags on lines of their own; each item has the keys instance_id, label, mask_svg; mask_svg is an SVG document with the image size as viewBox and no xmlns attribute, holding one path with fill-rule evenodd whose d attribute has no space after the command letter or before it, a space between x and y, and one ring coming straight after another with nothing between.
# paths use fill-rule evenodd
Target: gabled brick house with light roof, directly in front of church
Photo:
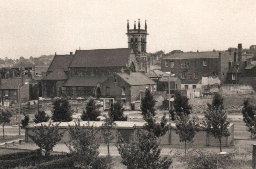
<instances>
[{"instance_id":1,"label":"gabled brick house with light roof, directly in front of church","mask_svg":"<svg viewBox=\"0 0 256 169\"><path fill-rule=\"evenodd\" d=\"M144 74L130 73L129 70L124 70L124 72L113 73L101 84L104 109L109 109L117 100L121 100L126 109L131 109L134 106L131 103L140 98L141 93L146 89L156 92L157 83Z\"/></svg>"}]
</instances>

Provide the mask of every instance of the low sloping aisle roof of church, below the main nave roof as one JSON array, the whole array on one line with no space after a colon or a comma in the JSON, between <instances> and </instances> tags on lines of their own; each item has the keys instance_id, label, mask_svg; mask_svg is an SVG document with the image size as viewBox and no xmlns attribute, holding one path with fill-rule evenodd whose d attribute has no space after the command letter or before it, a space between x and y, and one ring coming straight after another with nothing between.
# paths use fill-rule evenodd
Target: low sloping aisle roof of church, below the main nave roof
<instances>
[{"instance_id":1,"label":"low sloping aisle roof of church, below the main nave roof","mask_svg":"<svg viewBox=\"0 0 256 169\"><path fill-rule=\"evenodd\" d=\"M74 76L69 77L62 86L95 87L104 82L109 76Z\"/></svg>"}]
</instances>

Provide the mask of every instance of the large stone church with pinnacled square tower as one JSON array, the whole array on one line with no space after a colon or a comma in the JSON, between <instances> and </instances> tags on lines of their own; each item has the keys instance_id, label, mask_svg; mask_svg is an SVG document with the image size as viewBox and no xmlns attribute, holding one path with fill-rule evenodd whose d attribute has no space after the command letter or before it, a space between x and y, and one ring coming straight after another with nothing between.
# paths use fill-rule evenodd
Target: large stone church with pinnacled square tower
<instances>
[{"instance_id":1,"label":"large stone church with pinnacled square tower","mask_svg":"<svg viewBox=\"0 0 256 169\"><path fill-rule=\"evenodd\" d=\"M57 55L42 80L43 97L99 98L101 84L113 73L147 71L147 24L140 19L134 29L127 21L128 48L76 50L74 55ZM154 83L152 83L154 84Z\"/></svg>"}]
</instances>

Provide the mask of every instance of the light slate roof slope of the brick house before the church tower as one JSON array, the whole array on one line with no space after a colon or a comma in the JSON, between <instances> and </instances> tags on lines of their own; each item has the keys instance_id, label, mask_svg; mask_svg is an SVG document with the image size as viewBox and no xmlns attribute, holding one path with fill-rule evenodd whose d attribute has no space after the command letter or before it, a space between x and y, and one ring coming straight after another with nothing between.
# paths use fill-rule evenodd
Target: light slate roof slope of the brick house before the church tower
<instances>
[{"instance_id":1,"label":"light slate roof slope of the brick house before the church tower","mask_svg":"<svg viewBox=\"0 0 256 169\"><path fill-rule=\"evenodd\" d=\"M116 74L118 74L130 86L156 84L156 82L142 73L133 72L129 75L122 72Z\"/></svg>"}]
</instances>

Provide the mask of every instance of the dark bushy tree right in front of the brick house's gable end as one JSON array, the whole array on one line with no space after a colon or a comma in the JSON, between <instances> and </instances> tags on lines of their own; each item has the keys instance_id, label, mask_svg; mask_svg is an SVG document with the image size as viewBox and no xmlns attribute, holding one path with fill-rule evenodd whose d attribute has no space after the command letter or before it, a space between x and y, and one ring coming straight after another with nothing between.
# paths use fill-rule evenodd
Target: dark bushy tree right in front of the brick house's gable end
<instances>
[{"instance_id":1,"label":"dark bushy tree right in front of the brick house's gable end","mask_svg":"<svg viewBox=\"0 0 256 169\"><path fill-rule=\"evenodd\" d=\"M127 116L124 117L124 108L120 100L115 102L109 109L109 117L113 121L127 121Z\"/></svg>"}]
</instances>

